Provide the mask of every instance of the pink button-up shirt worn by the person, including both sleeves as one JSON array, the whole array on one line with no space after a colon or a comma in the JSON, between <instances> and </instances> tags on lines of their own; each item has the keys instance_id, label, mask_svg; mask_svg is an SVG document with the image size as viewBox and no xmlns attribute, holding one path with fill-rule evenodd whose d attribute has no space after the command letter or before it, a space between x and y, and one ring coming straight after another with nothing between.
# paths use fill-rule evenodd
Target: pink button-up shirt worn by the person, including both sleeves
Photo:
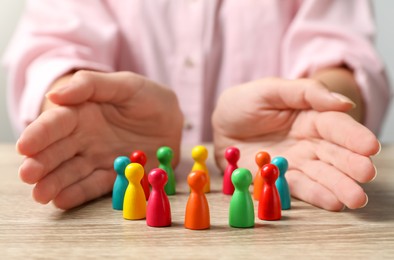
<instances>
[{"instance_id":1,"label":"pink button-up shirt worn by the person, including both sleeves","mask_svg":"<svg viewBox=\"0 0 394 260\"><path fill-rule=\"evenodd\" d=\"M374 30L367 0L30 0L5 56L9 111L21 131L62 74L127 70L173 89L184 141L208 141L225 88L344 63L377 133L390 95Z\"/></svg>"}]
</instances>

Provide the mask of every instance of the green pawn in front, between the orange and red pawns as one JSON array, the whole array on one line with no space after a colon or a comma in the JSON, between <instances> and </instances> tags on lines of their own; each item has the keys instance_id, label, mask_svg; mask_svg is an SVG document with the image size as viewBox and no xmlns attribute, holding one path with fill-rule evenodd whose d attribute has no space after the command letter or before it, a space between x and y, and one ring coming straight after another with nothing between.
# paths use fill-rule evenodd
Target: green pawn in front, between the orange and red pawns
<instances>
[{"instance_id":1,"label":"green pawn in front, between the orange and red pawns","mask_svg":"<svg viewBox=\"0 0 394 260\"><path fill-rule=\"evenodd\" d=\"M248 169L236 169L231 177L235 191L230 201L229 224L232 227L254 227L254 205L249 193L253 177Z\"/></svg>"}]
</instances>

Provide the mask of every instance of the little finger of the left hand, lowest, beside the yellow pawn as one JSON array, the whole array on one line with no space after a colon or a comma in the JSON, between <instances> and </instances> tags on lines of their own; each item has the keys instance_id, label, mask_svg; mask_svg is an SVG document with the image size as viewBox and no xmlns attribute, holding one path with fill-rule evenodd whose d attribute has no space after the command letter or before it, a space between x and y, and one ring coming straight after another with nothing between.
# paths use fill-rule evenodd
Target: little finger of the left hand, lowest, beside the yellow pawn
<instances>
[{"instance_id":1,"label":"little finger of the left hand, lowest, beside the yellow pawn","mask_svg":"<svg viewBox=\"0 0 394 260\"><path fill-rule=\"evenodd\" d=\"M62 190L53 203L56 207L66 210L99 198L112 190L115 178L116 174L113 171L94 171L82 181Z\"/></svg>"}]
</instances>

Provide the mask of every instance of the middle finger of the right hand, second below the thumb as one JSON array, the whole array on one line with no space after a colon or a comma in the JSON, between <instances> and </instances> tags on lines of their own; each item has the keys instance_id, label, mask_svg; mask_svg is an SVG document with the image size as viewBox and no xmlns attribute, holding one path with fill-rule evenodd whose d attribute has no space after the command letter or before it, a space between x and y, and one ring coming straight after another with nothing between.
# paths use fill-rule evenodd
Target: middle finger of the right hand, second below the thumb
<instances>
[{"instance_id":1,"label":"middle finger of the right hand, second below the thumb","mask_svg":"<svg viewBox=\"0 0 394 260\"><path fill-rule=\"evenodd\" d=\"M314 152L321 161L333 165L357 182L370 182L376 177L376 168L368 156L326 141L317 142Z\"/></svg>"}]
</instances>

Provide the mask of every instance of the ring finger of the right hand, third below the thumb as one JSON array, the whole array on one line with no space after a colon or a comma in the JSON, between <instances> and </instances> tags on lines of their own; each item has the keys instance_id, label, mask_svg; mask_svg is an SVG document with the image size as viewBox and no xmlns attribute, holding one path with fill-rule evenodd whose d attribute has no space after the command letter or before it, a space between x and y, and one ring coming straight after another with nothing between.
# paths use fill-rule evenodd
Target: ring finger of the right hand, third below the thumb
<instances>
[{"instance_id":1,"label":"ring finger of the right hand, third below the thumb","mask_svg":"<svg viewBox=\"0 0 394 260\"><path fill-rule=\"evenodd\" d=\"M330 190L337 199L350 209L361 208L368 202L363 189L346 174L322 161L310 160L301 171L311 180Z\"/></svg>"}]
</instances>

